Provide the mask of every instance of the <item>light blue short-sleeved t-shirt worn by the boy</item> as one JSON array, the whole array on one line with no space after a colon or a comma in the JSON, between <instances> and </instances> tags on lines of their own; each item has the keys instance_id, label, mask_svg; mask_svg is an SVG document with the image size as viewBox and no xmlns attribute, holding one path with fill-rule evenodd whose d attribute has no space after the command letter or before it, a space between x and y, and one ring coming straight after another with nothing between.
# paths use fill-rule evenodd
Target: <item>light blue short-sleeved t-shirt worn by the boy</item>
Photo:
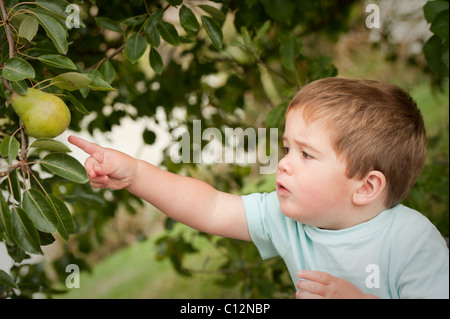
<instances>
[{"instance_id":1,"label":"light blue short-sleeved t-shirt worn by the boy","mask_svg":"<svg viewBox=\"0 0 450 319\"><path fill-rule=\"evenodd\" d=\"M319 270L380 298L449 298L449 250L436 227L415 210L398 205L333 231L284 216L276 192L242 199L261 256L280 255L294 284L299 270Z\"/></svg>"}]
</instances>

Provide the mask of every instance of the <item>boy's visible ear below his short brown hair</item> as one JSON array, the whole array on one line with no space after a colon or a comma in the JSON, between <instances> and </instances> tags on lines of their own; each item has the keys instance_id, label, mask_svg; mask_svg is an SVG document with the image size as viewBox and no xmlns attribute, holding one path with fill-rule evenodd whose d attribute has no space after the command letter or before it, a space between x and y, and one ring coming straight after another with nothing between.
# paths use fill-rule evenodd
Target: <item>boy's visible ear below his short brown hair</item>
<instances>
[{"instance_id":1,"label":"boy's visible ear below his short brown hair","mask_svg":"<svg viewBox=\"0 0 450 319\"><path fill-rule=\"evenodd\" d=\"M371 171L360 181L359 187L353 193L355 205L367 205L383 195L386 189L386 177L380 171Z\"/></svg>"}]
</instances>

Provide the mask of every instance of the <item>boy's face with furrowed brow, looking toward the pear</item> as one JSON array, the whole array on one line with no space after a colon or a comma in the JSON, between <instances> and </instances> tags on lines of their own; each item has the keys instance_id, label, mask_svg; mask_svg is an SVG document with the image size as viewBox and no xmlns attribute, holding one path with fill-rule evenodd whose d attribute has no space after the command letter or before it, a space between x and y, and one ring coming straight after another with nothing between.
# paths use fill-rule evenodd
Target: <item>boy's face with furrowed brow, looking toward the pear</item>
<instances>
[{"instance_id":1,"label":"boy's face with furrowed brow, looking toward the pear","mask_svg":"<svg viewBox=\"0 0 450 319\"><path fill-rule=\"evenodd\" d=\"M308 125L301 109L287 114L278 163L277 195L284 215L326 229L352 226L352 194L357 182L345 176L346 164L330 142L321 120Z\"/></svg>"}]
</instances>

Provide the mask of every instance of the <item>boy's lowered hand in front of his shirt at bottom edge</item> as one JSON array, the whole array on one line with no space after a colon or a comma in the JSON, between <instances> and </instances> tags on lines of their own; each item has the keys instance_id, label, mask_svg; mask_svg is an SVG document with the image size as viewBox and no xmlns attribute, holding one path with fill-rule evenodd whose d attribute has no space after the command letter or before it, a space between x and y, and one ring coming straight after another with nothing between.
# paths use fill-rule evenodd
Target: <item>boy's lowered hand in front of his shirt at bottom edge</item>
<instances>
[{"instance_id":1,"label":"boy's lowered hand in front of his shirt at bottom edge","mask_svg":"<svg viewBox=\"0 0 450 319\"><path fill-rule=\"evenodd\" d=\"M358 287L349 281L334 277L326 272L303 270L297 276L297 299L361 299L376 298L364 294ZM306 279L306 280L302 280Z\"/></svg>"}]
</instances>

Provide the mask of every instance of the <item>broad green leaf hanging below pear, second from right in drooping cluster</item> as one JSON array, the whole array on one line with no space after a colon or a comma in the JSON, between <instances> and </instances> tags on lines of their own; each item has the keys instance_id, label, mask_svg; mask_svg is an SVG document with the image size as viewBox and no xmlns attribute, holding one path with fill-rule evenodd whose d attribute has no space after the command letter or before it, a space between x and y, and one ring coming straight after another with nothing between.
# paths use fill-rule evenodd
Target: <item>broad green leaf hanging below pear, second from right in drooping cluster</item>
<instances>
[{"instance_id":1,"label":"broad green leaf hanging below pear, second from right in drooping cluster","mask_svg":"<svg viewBox=\"0 0 450 319\"><path fill-rule=\"evenodd\" d=\"M36 189L25 191L23 208L37 229L45 233L53 233L58 226L58 220L52 207L44 195Z\"/></svg>"}]
</instances>

